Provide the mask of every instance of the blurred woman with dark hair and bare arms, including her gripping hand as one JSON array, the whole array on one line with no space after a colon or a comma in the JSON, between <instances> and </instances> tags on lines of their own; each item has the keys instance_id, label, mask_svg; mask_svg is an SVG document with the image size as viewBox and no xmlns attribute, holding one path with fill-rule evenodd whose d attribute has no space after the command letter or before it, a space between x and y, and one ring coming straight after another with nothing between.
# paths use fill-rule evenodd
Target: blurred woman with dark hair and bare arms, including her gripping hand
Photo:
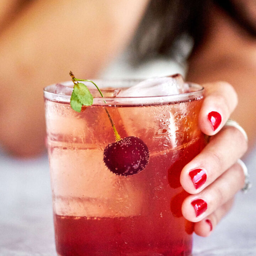
<instances>
[{"instance_id":1,"label":"blurred woman with dark hair and bare arms, including her gripping hand","mask_svg":"<svg viewBox=\"0 0 256 256\"><path fill-rule=\"evenodd\" d=\"M212 137L182 170L181 184L191 193L182 213L196 222L198 235L209 235L246 185L237 162L247 149L246 134L225 123L231 115L253 145L256 2L4 0L0 10L0 143L11 154L44 150L42 89L69 80L70 69L76 77L95 78L133 38L135 63L159 54L188 57L186 80L206 89L199 126ZM189 56L180 48L185 41L193 42ZM207 172L200 187L189 175L195 167ZM195 195L208 198L201 216L191 205Z\"/></svg>"}]
</instances>

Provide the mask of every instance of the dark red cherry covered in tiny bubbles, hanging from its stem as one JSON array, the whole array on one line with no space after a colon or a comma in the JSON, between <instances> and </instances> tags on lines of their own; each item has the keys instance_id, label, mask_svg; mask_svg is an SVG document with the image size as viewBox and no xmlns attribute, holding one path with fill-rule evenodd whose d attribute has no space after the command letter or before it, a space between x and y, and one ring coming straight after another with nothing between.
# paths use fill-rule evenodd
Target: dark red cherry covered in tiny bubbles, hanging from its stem
<instances>
[{"instance_id":1,"label":"dark red cherry covered in tiny bubbles, hanging from its stem","mask_svg":"<svg viewBox=\"0 0 256 256\"><path fill-rule=\"evenodd\" d=\"M133 175L147 166L149 150L143 140L130 136L108 144L103 160L113 173L122 176Z\"/></svg>"}]
</instances>

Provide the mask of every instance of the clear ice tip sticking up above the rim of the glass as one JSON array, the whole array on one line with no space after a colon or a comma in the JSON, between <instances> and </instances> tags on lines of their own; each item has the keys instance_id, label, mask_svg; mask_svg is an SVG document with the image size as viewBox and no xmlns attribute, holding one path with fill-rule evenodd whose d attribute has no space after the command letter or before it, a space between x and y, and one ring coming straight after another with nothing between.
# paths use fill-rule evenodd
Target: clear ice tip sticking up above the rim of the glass
<instances>
[{"instance_id":1,"label":"clear ice tip sticking up above the rim of the glass","mask_svg":"<svg viewBox=\"0 0 256 256\"><path fill-rule=\"evenodd\" d=\"M176 95L184 91L184 81L180 74L146 79L137 85L118 93L117 97L149 97Z\"/></svg>"}]
</instances>

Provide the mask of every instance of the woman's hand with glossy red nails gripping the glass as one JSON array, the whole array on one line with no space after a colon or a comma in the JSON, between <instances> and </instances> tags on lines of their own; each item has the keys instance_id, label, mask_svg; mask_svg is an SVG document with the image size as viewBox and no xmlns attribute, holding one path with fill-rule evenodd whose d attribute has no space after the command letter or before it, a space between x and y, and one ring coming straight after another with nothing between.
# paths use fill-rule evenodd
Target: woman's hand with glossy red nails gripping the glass
<instances>
[{"instance_id":1,"label":"woman's hand with glossy red nails gripping the glass","mask_svg":"<svg viewBox=\"0 0 256 256\"><path fill-rule=\"evenodd\" d=\"M237 160L247 150L247 139L237 128L225 126L238 102L233 87L226 82L203 86L199 126L211 137L203 151L183 168L180 182L191 194L182 204L183 216L195 222L197 235L208 236L244 187L244 172Z\"/></svg>"}]
</instances>

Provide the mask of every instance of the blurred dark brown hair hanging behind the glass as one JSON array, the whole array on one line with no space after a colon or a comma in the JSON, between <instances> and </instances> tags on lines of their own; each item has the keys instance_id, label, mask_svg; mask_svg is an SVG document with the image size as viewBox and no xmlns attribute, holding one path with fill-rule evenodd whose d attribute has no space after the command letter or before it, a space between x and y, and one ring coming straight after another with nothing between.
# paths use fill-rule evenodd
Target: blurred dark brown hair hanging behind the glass
<instances>
[{"instance_id":1,"label":"blurred dark brown hair hanging behind the glass","mask_svg":"<svg viewBox=\"0 0 256 256\"><path fill-rule=\"evenodd\" d=\"M131 44L132 63L159 55L177 61L189 57L182 46L189 41L193 53L202 43L213 5L219 6L251 34L232 0L151 0Z\"/></svg>"}]
</instances>

